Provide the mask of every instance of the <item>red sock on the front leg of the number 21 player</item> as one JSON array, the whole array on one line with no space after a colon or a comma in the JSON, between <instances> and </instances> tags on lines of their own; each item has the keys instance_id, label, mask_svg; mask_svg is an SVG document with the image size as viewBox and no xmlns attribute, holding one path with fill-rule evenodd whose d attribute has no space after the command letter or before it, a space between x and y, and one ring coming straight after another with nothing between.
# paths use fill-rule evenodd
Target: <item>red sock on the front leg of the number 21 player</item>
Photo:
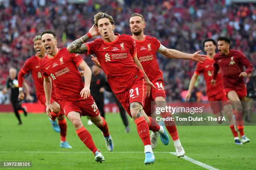
<instances>
[{"instance_id":1,"label":"red sock on the front leg of the number 21 player","mask_svg":"<svg viewBox=\"0 0 256 170\"><path fill-rule=\"evenodd\" d=\"M137 125L137 132L143 142L143 145L151 145L148 123L146 122L145 118L138 117L136 120L134 120L134 122Z\"/></svg>"}]
</instances>

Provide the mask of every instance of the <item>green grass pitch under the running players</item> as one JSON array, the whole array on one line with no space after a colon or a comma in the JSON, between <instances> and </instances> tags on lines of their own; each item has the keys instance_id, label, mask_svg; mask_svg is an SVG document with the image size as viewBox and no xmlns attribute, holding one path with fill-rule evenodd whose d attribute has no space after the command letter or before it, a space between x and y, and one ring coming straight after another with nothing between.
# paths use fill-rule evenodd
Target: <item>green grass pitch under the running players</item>
<instances>
[{"instance_id":1,"label":"green grass pitch under the running players","mask_svg":"<svg viewBox=\"0 0 256 170\"><path fill-rule=\"evenodd\" d=\"M31 161L32 168L51 170L200 170L205 169L168 152L175 152L172 139L167 146L158 140L154 150L154 165L144 165L144 147L138 137L136 126L129 118L131 132L125 128L118 114L107 114L106 121L114 140L114 151L108 152L100 130L95 125L89 130L105 162L96 163L94 155L79 140L74 127L67 120L67 141L72 149L59 148L59 134L51 129L46 114L21 115L23 125L18 126L13 113L0 114L0 161ZM256 170L256 127L246 126L245 133L251 139L245 145L235 145L228 126L177 126L179 138L186 155L194 160L220 170ZM2 168L1 168L2 169ZM5 169L5 168L3 168Z\"/></svg>"}]
</instances>

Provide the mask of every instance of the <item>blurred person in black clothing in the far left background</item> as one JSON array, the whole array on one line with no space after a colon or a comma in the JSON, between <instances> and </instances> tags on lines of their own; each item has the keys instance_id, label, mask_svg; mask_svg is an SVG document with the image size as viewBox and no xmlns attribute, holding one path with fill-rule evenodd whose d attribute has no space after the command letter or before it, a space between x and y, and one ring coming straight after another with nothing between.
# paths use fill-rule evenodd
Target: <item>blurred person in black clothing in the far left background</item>
<instances>
[{"instance_id":1,"label":"blurred person in black clothing in the far left background","mask_svg":"<svg viewBox=\"0 0 256 170\"><path fill-rule=\"evenodd\" d=\"M19 86L18 86L18 77L17 77L17 70L13 67L11 67L9 69L9 78L6 81L6 85L5 88L3 89L3 94L8 92L8 89L11 90L11 94L10 94L10 102L12 103L13 106L13 110L15 113L15 116L17 117L19 123L18 125L22 125L22 121L20 119L20 115L18 110L23 110L23 113L25 116L27 116L27 111L25 110L25 108L21 107L21 100L18 99L18 95L19 95ZM29 87L28 84L26 82L24 82L24 86L26 87L26 94L27 94L27 98L31 98L30 93L29 93Z\"/></svg>"}]
</instances>

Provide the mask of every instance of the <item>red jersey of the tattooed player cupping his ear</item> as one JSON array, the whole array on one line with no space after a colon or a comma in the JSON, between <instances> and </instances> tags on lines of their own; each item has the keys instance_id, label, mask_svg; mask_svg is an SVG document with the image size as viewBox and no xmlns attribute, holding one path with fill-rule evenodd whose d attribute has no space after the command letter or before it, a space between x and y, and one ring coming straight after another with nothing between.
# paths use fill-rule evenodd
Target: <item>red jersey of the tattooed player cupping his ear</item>
<instances>
[{"instance_id":1,"label":"red jersey of the tattooed player cupping his ear","mask_svg":"<svg viewBox=\"0 0 256 170\"><path fill-rule=\"evenodd\" d=\"M87 42L87 54L95 54L102 70L107 76L111 90L116 94L127 90L133 80L144 77L136 66L133 57L136 55L134 40L129 35L117 35L113 42L105 42L102 38Z\"/></svg>"}]
</instances>

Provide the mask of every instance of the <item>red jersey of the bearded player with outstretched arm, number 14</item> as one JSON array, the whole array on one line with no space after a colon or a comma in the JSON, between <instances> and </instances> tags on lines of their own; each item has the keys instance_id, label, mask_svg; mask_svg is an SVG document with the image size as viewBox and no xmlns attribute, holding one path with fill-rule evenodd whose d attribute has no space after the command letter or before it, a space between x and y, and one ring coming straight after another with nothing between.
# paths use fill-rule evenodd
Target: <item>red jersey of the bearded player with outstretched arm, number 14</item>
<instances>
[{"instance_id":1,"label":"red jersey of the bearded player with outstretched arm, number 14","mask_svg":"<svg viewBox=\"0 0 256 170\"><path fill-rule=\"evenodd\" d=\"M163 80L163 73L159 69L156 52L161 43L155 37L144 35L144 40L135 40L138 60L151 82Z\"/></svg>"}]
</instances>

